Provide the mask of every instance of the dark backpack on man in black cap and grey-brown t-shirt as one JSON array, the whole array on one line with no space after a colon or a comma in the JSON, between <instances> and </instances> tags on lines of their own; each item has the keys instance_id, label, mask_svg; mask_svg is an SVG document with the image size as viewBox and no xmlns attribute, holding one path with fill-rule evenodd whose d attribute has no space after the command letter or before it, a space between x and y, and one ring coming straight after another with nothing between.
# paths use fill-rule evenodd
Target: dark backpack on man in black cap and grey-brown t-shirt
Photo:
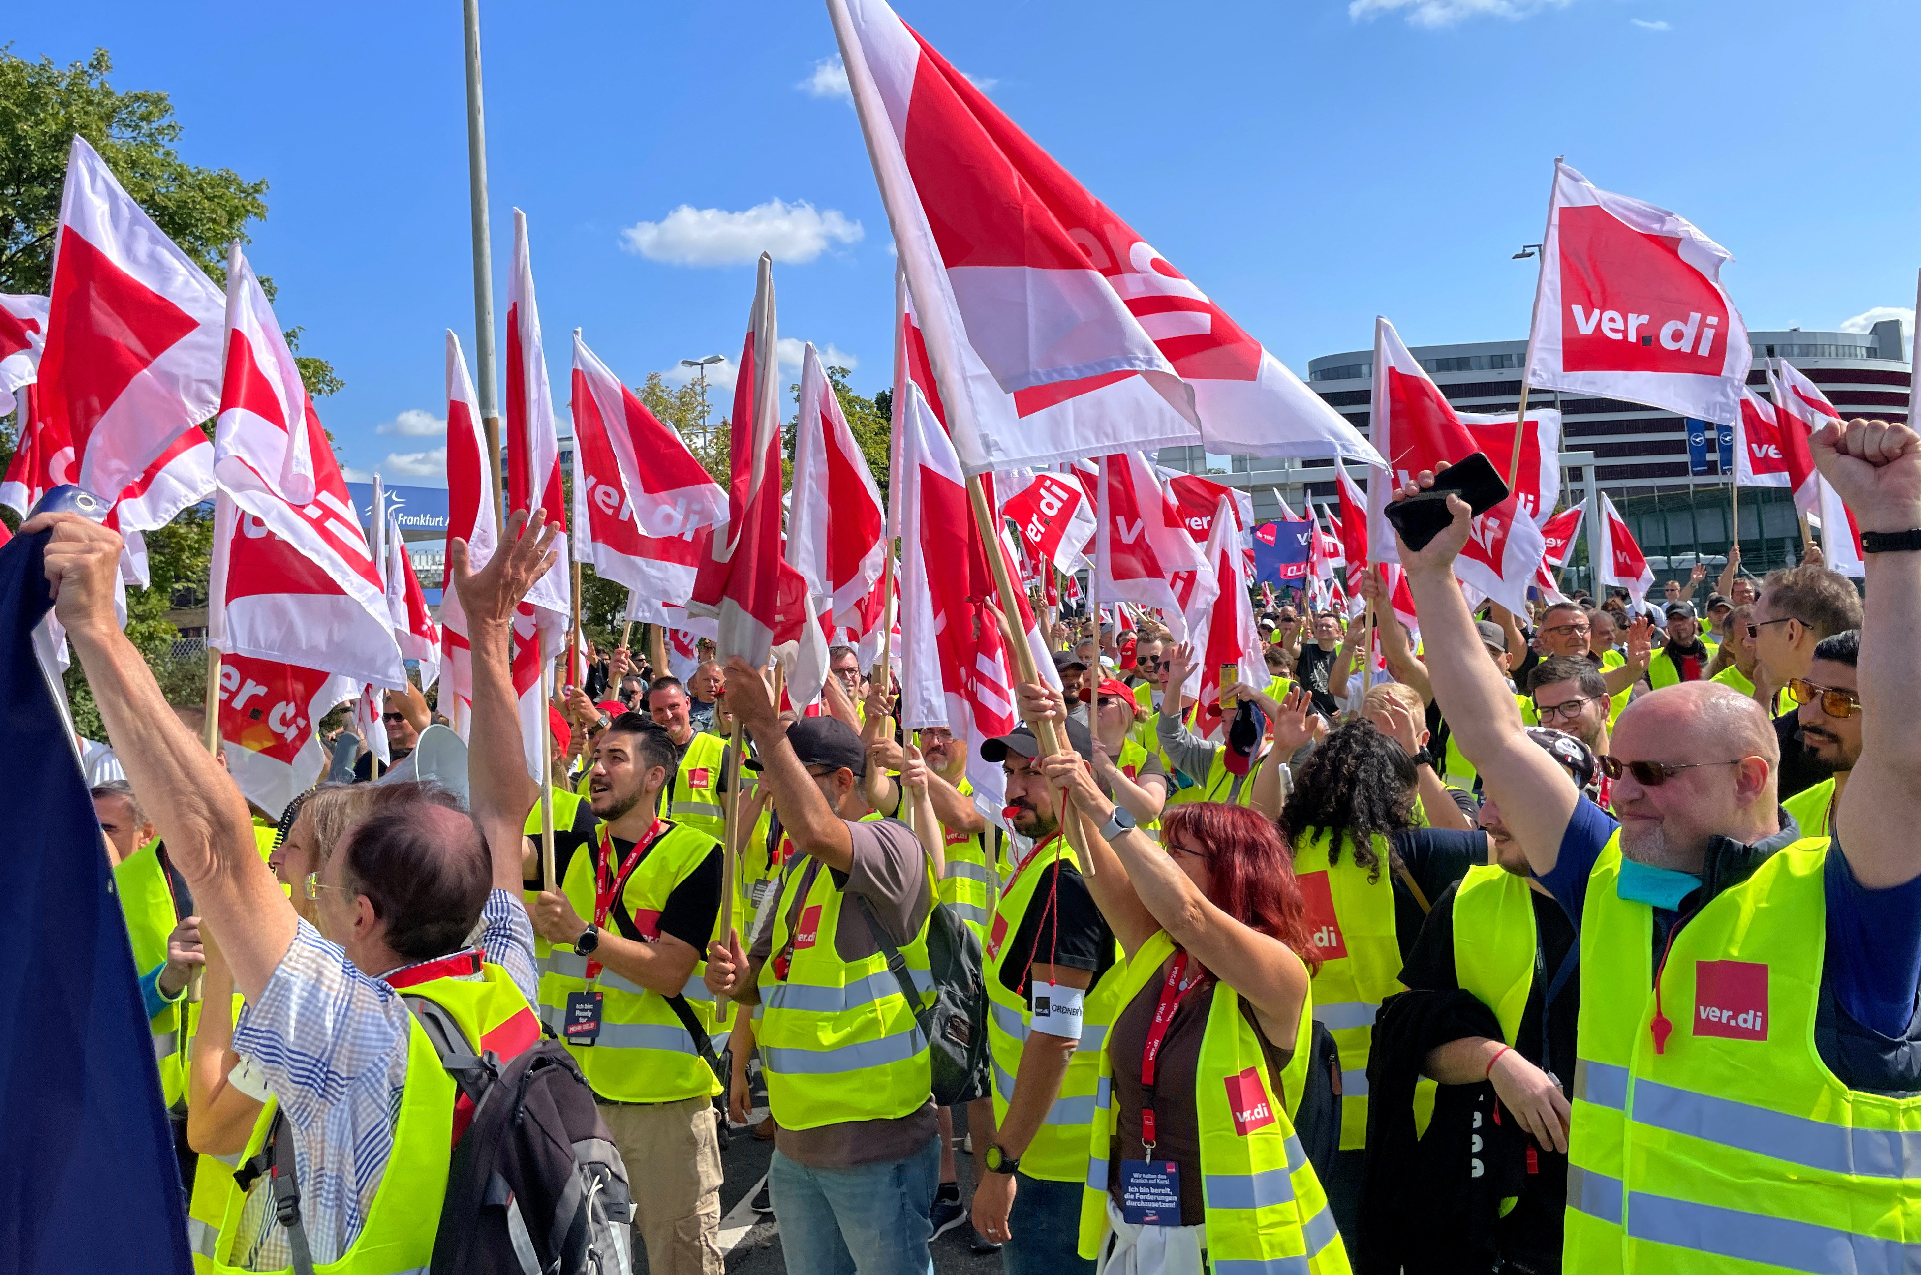
<instances>
[{"instance_id":1,"label":"dark backpack on man in black cap and grey-brown t-shirt","mask_svg":"<svg viewBox=\"0 0 1921 1275\"><path fill-rule=\"evenodd\" d=\"M928 974L934 997L922 1004L920 989L907 972L901 949L888 943L874 908L855 895L874 945L888 958L888 970L901 983L901 995L914 1010L920 1035L928 1039L934 1071L934 1106L959 1106L985 1098L987 1075L987 981L982 975L980 937L945 902L928 912Z\"/></svg>"}]
</instances>

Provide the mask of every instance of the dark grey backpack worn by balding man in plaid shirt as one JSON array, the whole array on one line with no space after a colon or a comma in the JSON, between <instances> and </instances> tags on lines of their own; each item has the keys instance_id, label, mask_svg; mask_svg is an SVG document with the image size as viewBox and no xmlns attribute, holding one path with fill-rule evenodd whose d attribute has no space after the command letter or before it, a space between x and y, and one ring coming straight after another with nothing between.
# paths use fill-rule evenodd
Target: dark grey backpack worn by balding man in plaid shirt
<instances>
[{"instance_id":1,"label":"dark grey backpack worn by balding man in plaid shirt","mask_svg":"<svg viewBox=\"0 0 1921 1275\"><path fill-rule=\"evenodd\" d=\"M559 1041L476 1058L453 1016L407 997L473 1123L453 1148L432 1275L628 1275L626 1166L580 1064Z\"/></svg>"}]
</instances>

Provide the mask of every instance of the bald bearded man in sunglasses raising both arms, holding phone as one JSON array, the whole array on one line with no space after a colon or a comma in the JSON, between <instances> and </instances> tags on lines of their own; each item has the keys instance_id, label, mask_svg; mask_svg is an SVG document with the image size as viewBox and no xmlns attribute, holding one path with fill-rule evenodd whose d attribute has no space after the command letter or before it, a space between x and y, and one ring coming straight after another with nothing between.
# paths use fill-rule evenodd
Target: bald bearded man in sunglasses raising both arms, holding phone
<instances>
[{"instance_id":1,"label":"bald bearded man in sunglasses raising both arms, holding phone","mask_svg":"<svg viewBox=\"0 0 1921 1275\"><path fill-rule=\"evenodd\" d=\"M1765 712L1714 684L1621 714L1602 758L1616 824L1466 649L1450 566L1468 507L1448 497L1448 530L1402 549L1462 747L1579 918L1569 1271L1892 1269L1909 1252L1911 1187L1879 1148L1921 1118L1921 436L1829 422L1810 451L1861 532L1873 599L1858 693L1875 716L1833 841L1779 810Z\"/></svg>"}]
</instances>

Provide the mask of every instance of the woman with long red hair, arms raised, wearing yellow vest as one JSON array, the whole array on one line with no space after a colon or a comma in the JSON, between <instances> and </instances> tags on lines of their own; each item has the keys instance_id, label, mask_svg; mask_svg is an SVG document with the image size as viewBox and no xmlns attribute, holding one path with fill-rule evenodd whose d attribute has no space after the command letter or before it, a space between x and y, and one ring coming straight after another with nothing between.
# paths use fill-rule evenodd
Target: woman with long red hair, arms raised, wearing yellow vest
<instances>
[{"instance_id":1,"label":"woman with long red hair, arms raised, wearing yellow vest","mask_svg":"<svg viewBox=\"0 0 1921 1275\"><path fill-rule=\"evenodd\" d=\"M1022 687L1030 720L1058 691ZM1347 1271L1293 1116L1310 1087L1306 902L1274 824L1220 803L1176 806L1155 843L1076 753L1043 758L1074 803L1087 887L1128 954L1101 1054L1082 1256L1156 1275L1302 1262Z\"/></svg>"}]
</instances>

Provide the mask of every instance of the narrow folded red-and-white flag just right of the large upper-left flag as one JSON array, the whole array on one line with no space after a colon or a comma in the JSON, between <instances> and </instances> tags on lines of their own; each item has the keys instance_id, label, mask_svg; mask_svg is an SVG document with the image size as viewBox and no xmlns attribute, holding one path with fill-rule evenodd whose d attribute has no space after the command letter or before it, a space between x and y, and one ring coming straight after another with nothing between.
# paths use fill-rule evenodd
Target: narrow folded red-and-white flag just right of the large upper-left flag
<instances>
[{"instance_id":1,"label":"narrow folded red-and-white flag just right of the large upper-left flag","mask_svg":"<svg viewBox=\"0 0 1921 1275\"><path fill-rule=\"evenodd\" d=\"M294 351L254 265L234 242L227 252L227 369L213 426L215 480L232 492L265 488L282 507L311 503L317 490L311 411Z\"/></svg>"}]
</instances>

